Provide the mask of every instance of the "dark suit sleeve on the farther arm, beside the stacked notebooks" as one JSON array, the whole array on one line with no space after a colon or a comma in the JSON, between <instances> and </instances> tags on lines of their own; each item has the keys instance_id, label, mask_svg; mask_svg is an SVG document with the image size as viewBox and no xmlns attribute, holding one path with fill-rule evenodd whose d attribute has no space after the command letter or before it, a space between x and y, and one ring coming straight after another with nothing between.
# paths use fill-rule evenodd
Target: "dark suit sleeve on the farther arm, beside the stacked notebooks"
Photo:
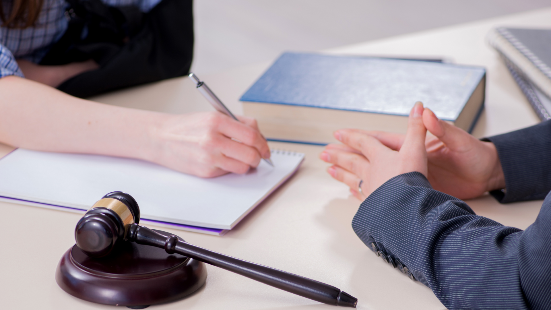
<instances>
[{"instance_id":1,"label":"dark suit sleeve on the farther arm, beside the stacked notebooks","mask_svg":"<svg viewBox=\"0 0 551 310\"><path fill-rule=\"evenodd\" d=\"M500 202L544 199L551 190L551 121L484 138L498 149L505 190L491 194Z\"/></svg>"}]
</instances>

